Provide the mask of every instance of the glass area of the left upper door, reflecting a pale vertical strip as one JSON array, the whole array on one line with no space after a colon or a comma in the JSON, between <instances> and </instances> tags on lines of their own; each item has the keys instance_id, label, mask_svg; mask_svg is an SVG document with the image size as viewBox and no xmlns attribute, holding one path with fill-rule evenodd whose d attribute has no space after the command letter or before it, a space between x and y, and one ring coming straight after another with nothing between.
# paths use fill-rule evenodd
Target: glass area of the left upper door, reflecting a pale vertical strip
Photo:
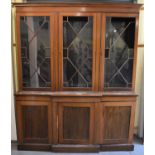
<instances>
[{"instance_id":1,"label":"glass area of the left upper door, reflecting a pale vertical strip","mask_svg":"<svg viewBox=\"0 0 155 155\"><path fill-rule=\"evenodd\" d=\"M23 87L51 86L50 18L20 17Z\"/></svg>"}]
</instances>

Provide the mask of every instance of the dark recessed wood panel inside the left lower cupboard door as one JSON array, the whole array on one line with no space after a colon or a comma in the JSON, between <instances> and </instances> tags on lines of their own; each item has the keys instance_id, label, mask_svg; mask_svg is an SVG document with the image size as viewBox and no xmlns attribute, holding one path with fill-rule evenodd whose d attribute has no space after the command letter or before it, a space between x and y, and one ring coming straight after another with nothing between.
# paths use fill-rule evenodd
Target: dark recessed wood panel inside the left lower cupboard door
<instances>
[{"instance_id":1,"label":"dark recessed wood panel inside the left lower cupboard door","mask_svg":"<svg viewBox=\"0 0 155 155\"><path fill-rule=\"evenodd\" d=\"M47 106L22 106L24 142L48 142Z\"/></svg>"}]
</instances>

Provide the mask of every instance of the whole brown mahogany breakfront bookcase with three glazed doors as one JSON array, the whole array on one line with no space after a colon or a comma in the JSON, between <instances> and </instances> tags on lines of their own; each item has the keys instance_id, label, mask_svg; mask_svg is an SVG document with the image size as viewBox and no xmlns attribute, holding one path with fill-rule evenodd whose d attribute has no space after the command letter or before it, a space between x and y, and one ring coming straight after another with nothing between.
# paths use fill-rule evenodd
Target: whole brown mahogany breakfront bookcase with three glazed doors
<instances>
[{"instance_id":1,"label":"whole brown mahogany breakfront bookcase with three glazed doors","mask_svg":"<svg viewBox=\"0 0 155 155\"><path fill-rule=\"evenodd\" d=\"M13 6L18 149L133 150L141 5Z\"/></svg>"}]
</instances>

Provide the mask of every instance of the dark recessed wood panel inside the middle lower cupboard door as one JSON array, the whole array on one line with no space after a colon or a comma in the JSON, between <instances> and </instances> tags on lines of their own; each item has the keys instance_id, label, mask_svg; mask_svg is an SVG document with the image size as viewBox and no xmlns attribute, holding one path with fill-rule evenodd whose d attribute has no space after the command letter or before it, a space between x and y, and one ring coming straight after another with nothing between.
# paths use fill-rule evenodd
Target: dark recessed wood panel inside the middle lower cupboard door
<instances>
[{"instance_id":1,"label":"dark recessed wood panel inside the middle lower cupboard door","mask_svg":"<svg viewBox=\"0 0 155 155\"><path fill-rule=\"evenodd\" d=\"M64 139L76 140L89 138L89 108L64 107L63 115Z\"/></svg>"}]
</instances>

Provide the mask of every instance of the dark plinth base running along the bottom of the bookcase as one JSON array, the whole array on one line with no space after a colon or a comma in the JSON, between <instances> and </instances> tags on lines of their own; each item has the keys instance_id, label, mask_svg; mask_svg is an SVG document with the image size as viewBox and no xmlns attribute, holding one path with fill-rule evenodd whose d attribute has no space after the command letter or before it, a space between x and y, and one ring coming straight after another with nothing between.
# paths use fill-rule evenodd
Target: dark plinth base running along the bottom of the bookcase
<instances>
[{"instance_id":1,"label":"dark plinth base running along the bottom of the bookcase","mask_svg":"<svg viewBox=\"0 0 155 155\"><path fill-rule=\"evenodd\" d=\"M48 144L19 144L18 150L31 150L31 151L52 151L52 152L67 152L67 153L80 153L80 152L103 152L103 151L133 151L134 145L132 144L109 144L109 145L48 145Z\"/></svg>"}]
</instances>

